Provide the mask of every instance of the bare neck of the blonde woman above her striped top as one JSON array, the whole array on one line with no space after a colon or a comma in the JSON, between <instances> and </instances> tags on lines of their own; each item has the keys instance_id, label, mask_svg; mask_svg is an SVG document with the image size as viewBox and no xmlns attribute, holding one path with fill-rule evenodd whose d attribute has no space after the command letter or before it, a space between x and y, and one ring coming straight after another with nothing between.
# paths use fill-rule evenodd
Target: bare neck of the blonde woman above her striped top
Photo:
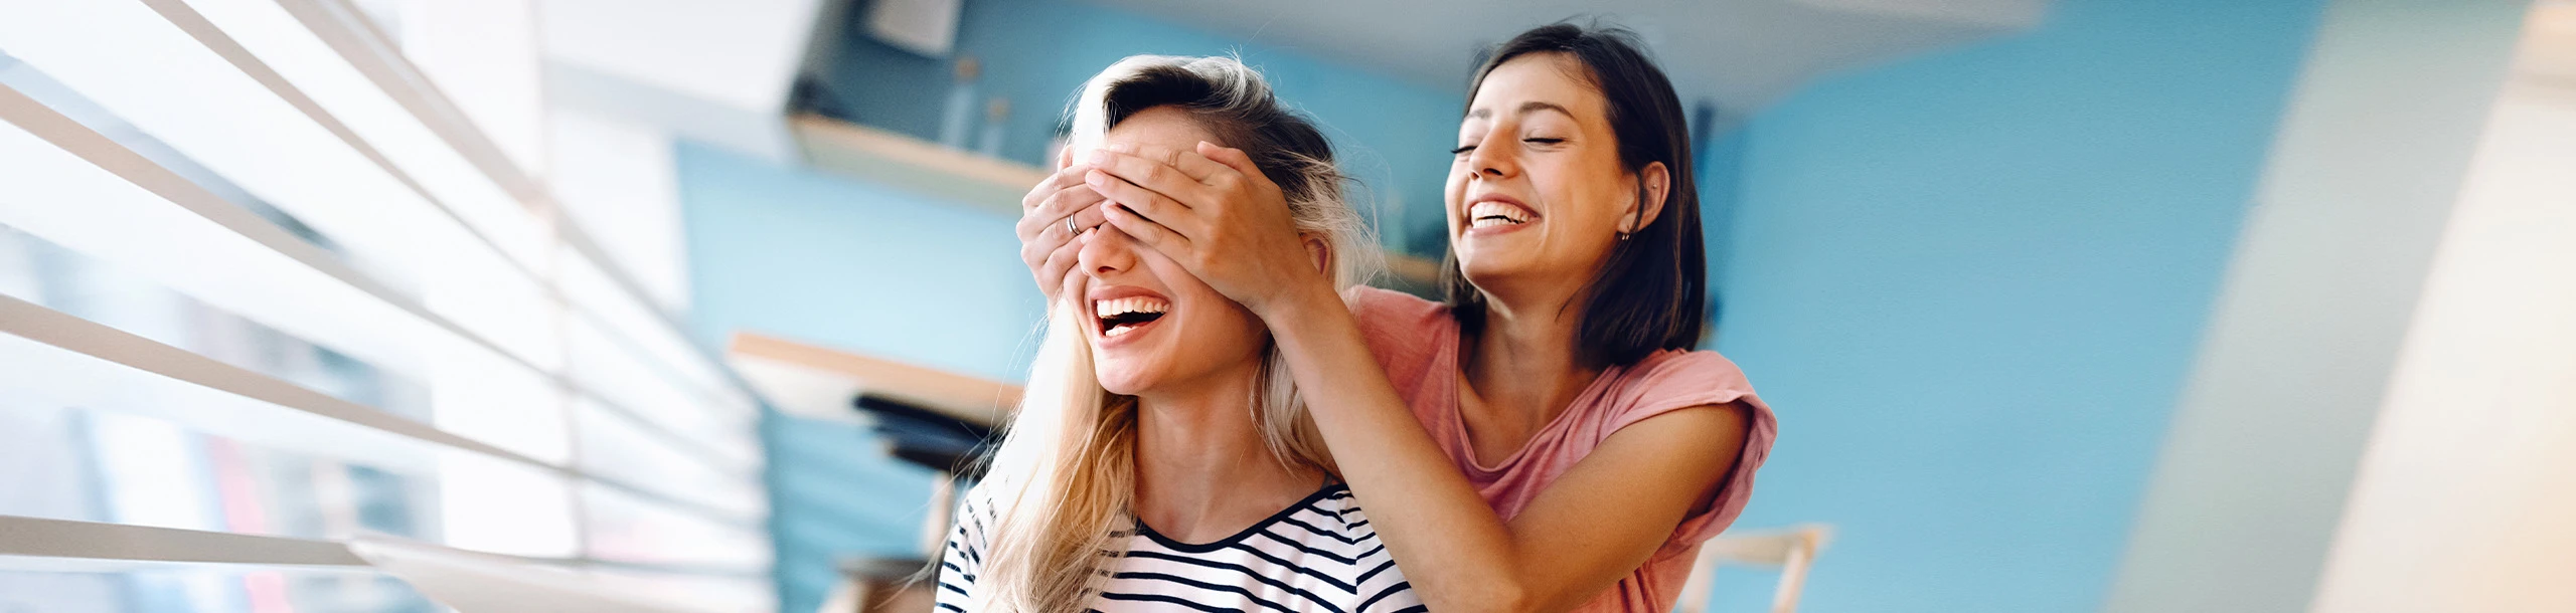
<instances>
[{"instance_id":1,"label":"bare neck of the blonde woman above her striped top","mask_svg":"<svg viewBox=\"0 0 2576 613\"><path fill-rule=\"evenodd\" d=\"M1182 543L1234 536L1324 487L1285 466L1252 420L1255 368L1136 397L1136 518Z\"/></svg>"}]
</instances>

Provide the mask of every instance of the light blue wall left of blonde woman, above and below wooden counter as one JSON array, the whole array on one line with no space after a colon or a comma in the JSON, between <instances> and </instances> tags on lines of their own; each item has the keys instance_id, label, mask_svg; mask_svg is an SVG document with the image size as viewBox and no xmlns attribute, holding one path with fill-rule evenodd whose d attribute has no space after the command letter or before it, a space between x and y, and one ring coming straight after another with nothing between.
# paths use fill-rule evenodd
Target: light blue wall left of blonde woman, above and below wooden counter
<instances>
[{"instance_id":1,"label":"light blue wall left of blonde woman, above and below wooden counter","mask_svg":"<svg viewBox=\"0 0 2576 613\"><path fill-rule=\"evenodd\" d=\"M693 325L1020 381L1043 299L1012 219L680 144ZM889 458L866 428L762 420L783 610L814 610L835 561L912 554L933 474Z\"/></svg>"}]
</instances>

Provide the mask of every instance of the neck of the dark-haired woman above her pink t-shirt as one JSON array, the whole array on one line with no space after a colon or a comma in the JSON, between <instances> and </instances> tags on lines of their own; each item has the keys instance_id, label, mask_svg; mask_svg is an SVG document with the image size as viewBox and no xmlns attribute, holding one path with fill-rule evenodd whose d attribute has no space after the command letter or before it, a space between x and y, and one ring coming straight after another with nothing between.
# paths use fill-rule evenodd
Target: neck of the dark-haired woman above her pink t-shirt
<instances>
[{"instance_id":1,"label":"neck of the dark-haired woman above her pink t-shirt","mask_svg":"<svg viewBox=\"0 0 2576 613\"><path fill-rule=\"evenodd\" d=\"M1577 332L1584 304L1579 296L1507 299L1486 294L1484 325L1461 348L1461 407L1484 425L1476 440L1486 448L1520 448L1538 428L1574 404L1600 368L1579 361ZM1510 456L1510 453L1502 453Z\"/></svg>"}]
</instances>

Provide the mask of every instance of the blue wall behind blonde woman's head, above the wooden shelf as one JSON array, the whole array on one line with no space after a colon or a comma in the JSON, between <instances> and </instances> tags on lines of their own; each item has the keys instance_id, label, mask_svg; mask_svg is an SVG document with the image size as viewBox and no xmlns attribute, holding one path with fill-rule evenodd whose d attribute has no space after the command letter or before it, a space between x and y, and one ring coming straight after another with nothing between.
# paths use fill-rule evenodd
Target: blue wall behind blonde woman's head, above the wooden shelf
<instances>
[{"instance_id":1,"label":"blue wall behind blonde woman's head, above the wooden shelf","mask_svg":"<svg viewBox=\"0 0 2576 613\"><path fill-rule=\"evenodd\" d=\"M1458 139L1468 49L1458 52L1458 85L1435 88L1316 59L1301 49L1218 36L1162 18L1072 0L981 0L958 15L956 54L984 62L981 98L1012 100L1002 157L1043 162L1064 103L1082 80L1131 54L1236 54L1262 70L1296 108L1324 124L1342 170L1373 201L1401 201L1401 229L1388 245L1437 255L1440 183ZM829 90L837 113L922 139L938 137L948 59L927 59L853 33L835 59ZM1396 222L1388 214L1388 222Z\"/></svg>"}]
</instances>

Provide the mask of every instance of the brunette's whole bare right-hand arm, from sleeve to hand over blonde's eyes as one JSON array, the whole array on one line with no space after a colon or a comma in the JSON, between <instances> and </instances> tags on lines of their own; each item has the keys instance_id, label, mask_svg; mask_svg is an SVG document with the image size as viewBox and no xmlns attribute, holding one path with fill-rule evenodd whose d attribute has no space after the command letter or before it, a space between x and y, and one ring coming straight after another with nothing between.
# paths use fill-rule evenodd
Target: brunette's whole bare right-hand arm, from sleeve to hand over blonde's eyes
<instances>
[{"instance_id":1,"label":"brunette's whole bare right-hand arm, from sleeve to hand over blonde's eyes","mask_svg":"<svg viewBox=\"0 0 2576 613\"><path fill-rule=\"evenodd\" d=\"M1278 188L1242 152L1113 152L1092 167L1108 224L1270 325L1342 479L1432 610L1582 605L1654 556L1741 456L1741 407L1667 412L1605 440L1502 523L1414 422L1293 240Z\"/></svg>"}]
</instances>

